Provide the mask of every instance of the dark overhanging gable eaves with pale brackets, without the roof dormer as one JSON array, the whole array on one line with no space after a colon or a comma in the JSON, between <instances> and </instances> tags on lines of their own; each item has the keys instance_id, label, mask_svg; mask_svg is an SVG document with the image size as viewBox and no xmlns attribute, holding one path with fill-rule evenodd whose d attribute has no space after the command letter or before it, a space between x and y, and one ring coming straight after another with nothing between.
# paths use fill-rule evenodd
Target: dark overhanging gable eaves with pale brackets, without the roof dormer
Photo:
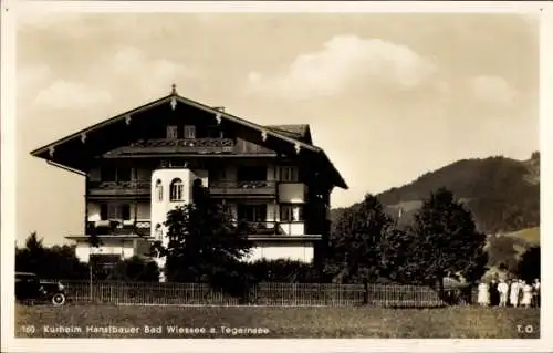
<instances>
[{"instance_id":1,"label":"dark overhanging gable eaves with pale brackets, without the roof dormer","mask_svg":"<svg viewBox=\"0 0 553 353\"><path fill-rule=\"evenodd\" d=\"M322 148L293 138L284 132L281 133L278 129L249 122L216 107L182 97L176 92L36 148L31 152L31 155L70 172L86 174L86 165L92 158L118 147L122 141L125 143L133 141L135 136L128 133L128 127L134 124L134 120L140 120L147 112L156 108L170 107L175 111L179 105L206 112L213 116L218 123L225 121L225 124L230 124L246 134L254 134L260 142L269 141L279 144L289 154L303 155L310 162L315 160L321 164L321 167L330 172L330 177L336 186L347 189L344 179ZM108 138L106 134L116 138Z\"/></svg>"}]
</instances>

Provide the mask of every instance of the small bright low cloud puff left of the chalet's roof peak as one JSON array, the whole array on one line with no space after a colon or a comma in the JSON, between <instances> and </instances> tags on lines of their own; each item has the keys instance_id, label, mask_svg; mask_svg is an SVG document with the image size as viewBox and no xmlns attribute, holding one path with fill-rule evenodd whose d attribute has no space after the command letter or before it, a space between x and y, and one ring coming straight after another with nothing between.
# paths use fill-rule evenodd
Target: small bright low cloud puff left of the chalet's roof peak
<instances>
[{"instance_id":1,"label":"small bright low cloud puff left of the chalet's roof peak","mask_svg":"<svg viewBox=\"0 0 553 353\"><path fill-rule=\"evenodd\" d=\"M58 80L41 91L35 104L49 108L90 108L95 104L109 103L109 92L93 86Z\"/></svg>"}]
</instances>

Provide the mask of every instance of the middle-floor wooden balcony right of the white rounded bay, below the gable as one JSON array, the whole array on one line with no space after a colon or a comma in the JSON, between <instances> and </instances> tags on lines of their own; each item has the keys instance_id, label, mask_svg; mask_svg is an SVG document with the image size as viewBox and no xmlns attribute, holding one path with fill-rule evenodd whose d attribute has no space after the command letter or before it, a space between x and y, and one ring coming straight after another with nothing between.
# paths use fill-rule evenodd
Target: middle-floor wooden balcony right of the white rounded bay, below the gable
<instances>
[{"instance_id":1,"label":"middle-floor wooden balcony right of the white rounded bay, below the gable","mask_svg":"<svg viewBox=\"0 0 553 353\"><path fill-rule=\"evenodd\" d=\"M276 183L259 181L212 181L209 183L209 194L213 197L276 197Z\"/></svg>"}]
</instances>

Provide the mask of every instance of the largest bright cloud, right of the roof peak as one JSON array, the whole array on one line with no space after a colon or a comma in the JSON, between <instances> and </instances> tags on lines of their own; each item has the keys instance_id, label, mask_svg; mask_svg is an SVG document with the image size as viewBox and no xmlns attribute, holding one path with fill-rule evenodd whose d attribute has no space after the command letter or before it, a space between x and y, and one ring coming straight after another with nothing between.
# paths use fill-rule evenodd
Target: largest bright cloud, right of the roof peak
<instances>
[{"instance_id":1,"label":"largest bright cloud, right of the roof peak","mask_svg":"<svg viewBox=\"0 0 553 353\"><path fill-rule=\"evenodd\" d=\"M255 91L285 96L340 94L371 83L413 90L430 81L437 68L409 48L379 39L337 35L319 51L299 55L281 75L249 74Z\"/></svg>"}]
</instances>

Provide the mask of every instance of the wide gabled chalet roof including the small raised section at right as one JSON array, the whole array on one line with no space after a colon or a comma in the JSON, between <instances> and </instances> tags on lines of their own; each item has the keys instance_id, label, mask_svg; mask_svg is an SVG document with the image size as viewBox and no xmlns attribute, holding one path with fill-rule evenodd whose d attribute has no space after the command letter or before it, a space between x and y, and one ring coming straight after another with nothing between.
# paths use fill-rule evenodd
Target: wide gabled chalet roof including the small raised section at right
<instances>
[{"instance_id":1,"label":"wide gabled chalet roof including the small raised section at right","mask_svg":"<svg viewBox=\"0 0 553 353\"><path fill-rule=\"evenodd\" d=\"M326 165L326 167L330 168L330 172L332 174L332 178L335 180L335 184L338 187L342 188L347 188L347 185L345 184L344 179L340 175L340 173L334 168L332 163L328 160L326 155L324 154L323 149L313 145L312 139L311 139L311 132L309 125L305 124L299 124L299 125L270 125L270 126L262 126L255 123L252 123L250 121L247 121L244 118L238 117L236 115L229 114L225 111L221 111L217 107L208 106L202 103L192 101L190 98L184 97L179 94L177 94L175 86L173 89L171 94L164 96L159 100L153 101L150 103L144 104L139 107L126 111L124 113L121 113L114 117L111 117L108 120L105 120L103 122L100 122L97 124L94 124L92 126L88 126L86 128L83 128L74 134L71 134L66 137L63 137L61 139L58 139L51 144L48 144L43 147L36 148L33 152L31 152L31 155L39 157L39 158L44 158L49 162L55 163L60 166L65 166L70 168L74 168L73 166L64 164L64 162L55 160L52 156L54 155L56 148L65 148L69 152L73 152L73 147L80 146L81 142L84 144L85 141L88 141L88 137L92 136L93 138L96 138L96 142L98 139L102 139L104 133L109 133L112 135L118 136L117 133L121 133L124 131L126 125L132 124L131 122L135 116L139 116L140 114L148 112L150 110L156 110L158 107L163 107L165 104L167 106L171 106L173 110L175 110L179 104L184 104L187 106L191 106L195 108L198 108L200 111L207 112L209 114L212 114L212 116L217 121L226 121L231 124L234 124L234 126L241 126L242 128L247 128L250 131L257 131L259 132L259 138L265 139L276 139L281 141L284 143L284 145L289 145L289 149L291 150L306 150L310 153L313 153L314 156L317 157L317 160ZM105 139L105 138L104 138ZM109 144L113 144L114 142L104 142L103 141L103 146L108 146ZM94 146L94 144L92 144ZM88 148L101 148L101 147L88 147Z\"/></svg>"}]
</instances>

